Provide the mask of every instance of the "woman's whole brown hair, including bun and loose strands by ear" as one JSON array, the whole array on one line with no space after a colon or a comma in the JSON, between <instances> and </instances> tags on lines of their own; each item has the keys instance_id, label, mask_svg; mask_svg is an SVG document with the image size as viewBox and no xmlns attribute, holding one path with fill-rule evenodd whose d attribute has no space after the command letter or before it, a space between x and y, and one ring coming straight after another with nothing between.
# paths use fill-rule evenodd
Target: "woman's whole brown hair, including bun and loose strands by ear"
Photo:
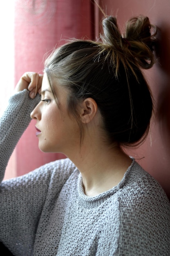
<instances>
[{"instance_id":1,"label":"woman's whole brown hair, including bun and loose strands by ear","mask_svg":"<svg viewBox=\"0 0 170 256\"><path fill-rule=\"evenodd\" d=\"M78 105L91 97L102 117L110 144L139 144L145 139L152 116L152 96L141 69L153 66L157 29L148 17L133 17L121 36L116 18L103 19L98 40L70 40L45 61L54 92L55 81L69 90L68 111L74 115L83 139Z\"/></svg>"}]
</instances>

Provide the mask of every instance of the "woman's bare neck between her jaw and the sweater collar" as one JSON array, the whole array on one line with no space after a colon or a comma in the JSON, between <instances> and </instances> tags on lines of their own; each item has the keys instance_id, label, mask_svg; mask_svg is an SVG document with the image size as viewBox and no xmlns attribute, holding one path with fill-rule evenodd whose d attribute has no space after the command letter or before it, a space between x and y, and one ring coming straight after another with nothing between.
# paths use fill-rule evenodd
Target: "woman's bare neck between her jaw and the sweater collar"
<instances>
[{"instance_id":1,"label":"woman's bare neck between her jaw and the sweater collar","mask_svg":"<svg viewBox=\"0 0 170 256\"><path fill-rule=\"evenodd\" d=\"M74 151L75 153L75 151ZM69 156L68 156L69 157ZM69 157L83 178L84 192L95 196L116 186L132 160L119 147L94 142L84 144L77 155Z\"/></svg>"}]
</instances>

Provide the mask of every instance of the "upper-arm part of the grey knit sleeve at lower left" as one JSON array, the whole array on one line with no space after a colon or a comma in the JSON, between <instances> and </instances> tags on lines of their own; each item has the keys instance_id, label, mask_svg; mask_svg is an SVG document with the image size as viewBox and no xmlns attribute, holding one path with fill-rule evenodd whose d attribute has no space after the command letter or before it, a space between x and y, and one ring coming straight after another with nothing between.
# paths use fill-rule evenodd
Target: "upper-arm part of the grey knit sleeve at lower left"
<instances>
[{"instance_id":1,"label":"upper-arm part of the grey knit sleeve at lower left","mask_svg":"<svg viewBox=\"0 0 170 256\"><path fill-rule=\"evenodd\" d=\"M38 227L49 222L55 199L74 168L69 159L61 159L1 183L0 241L14 255L33 255Z\"/></svg>"}]
</instances>

